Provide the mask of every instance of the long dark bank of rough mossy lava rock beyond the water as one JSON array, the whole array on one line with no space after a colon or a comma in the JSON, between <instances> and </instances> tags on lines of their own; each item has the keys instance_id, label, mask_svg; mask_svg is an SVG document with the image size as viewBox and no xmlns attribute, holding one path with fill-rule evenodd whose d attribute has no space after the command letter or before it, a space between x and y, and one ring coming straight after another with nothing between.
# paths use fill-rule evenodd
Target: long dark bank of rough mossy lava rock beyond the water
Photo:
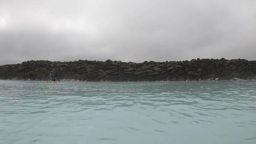
<instances>
[{"instance_id":1,"label":"long dark bank of rough mossy lava rock beyond the water","mask_svg":"<svg viewBox=\"0 0 256 144\"><path fill-rule=\"evenodd\" d=\"M193 59L143 63L121 61L52 62L30 60L0 66L0 79L61 81L200 81L256 79L256 61Z\"/></svg>"}]
</instances>

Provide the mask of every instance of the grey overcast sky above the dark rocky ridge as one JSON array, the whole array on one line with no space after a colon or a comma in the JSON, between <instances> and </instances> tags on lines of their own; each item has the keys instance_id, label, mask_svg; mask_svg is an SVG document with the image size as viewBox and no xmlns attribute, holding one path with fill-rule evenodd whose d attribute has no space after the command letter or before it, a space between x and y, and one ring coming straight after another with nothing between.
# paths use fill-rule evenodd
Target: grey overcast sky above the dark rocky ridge
<instances>
[{"instance_id":1,"label":"grey overcast sky above the dark rocky ridge","mask_svg":"<svg viewBox=\"0 0 256 144\"><path fill-rule=\"evenodd\" d=\"M255 0L0 0L0 65L256 60Z\"/></svg>"}]
</instances>

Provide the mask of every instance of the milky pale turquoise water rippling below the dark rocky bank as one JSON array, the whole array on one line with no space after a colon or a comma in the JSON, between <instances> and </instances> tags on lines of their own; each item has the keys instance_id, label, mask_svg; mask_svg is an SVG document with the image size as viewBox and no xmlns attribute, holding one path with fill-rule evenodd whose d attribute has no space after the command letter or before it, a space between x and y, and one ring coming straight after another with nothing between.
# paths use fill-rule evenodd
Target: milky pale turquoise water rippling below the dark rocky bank
<instances>
[{"instance_id":1,"label":"milky pale turquoise water rippling below the dark rocky bank","mask_svg":"<svg viewBox=\"0 0 256 144\"><path fill-rule=\"evenodd\" d=\"M256 81L0 81L1 144L255 144Z\"/></svg>"}]
</instances>

